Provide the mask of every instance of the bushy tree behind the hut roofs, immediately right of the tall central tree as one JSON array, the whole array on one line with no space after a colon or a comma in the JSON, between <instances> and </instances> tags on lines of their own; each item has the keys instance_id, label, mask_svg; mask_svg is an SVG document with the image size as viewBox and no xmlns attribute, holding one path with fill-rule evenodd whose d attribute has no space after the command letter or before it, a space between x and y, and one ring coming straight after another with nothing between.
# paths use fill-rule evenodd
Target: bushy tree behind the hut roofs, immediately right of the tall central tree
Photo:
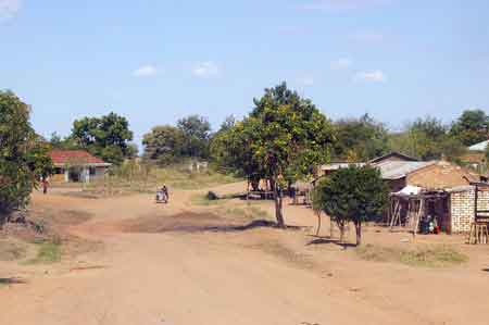
<instances>
[{"instance_id":1,"label":"bushy tree behind the hut roofs, immediately right of the tall central tree","mask_svg":"<svg viewBox=\"0 0 489 325\"><path fill-rule=\"evenodd\" d=\"M335 123L335 157L351 162L367 161L389 151L389 134L384 124L368 114Z\"/></svg>"}]
</instances>

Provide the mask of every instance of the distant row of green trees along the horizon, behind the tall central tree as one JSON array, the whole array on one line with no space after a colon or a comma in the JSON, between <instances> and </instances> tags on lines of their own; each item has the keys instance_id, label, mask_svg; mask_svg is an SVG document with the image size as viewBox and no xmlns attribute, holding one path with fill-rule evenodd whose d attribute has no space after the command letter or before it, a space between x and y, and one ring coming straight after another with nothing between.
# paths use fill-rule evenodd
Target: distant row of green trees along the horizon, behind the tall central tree
<instances>
[{"instance_id":1,"label":"distant row of green trees along the horizon, behind the tall central tree","mask_svg":"<svg viewBox=\"0 0 489 325\"><path fill-rule=\"evenodd\" d=\"M272 93L274 91L276 93ZM263 102L254 101L255 109L250 116L256 117L256 108L269 105L269 101L275 101L277 108L302 100L298 98L285 84L267 89L261 99ZM312 102L309 101L309 104L312 105ZM238 121L238 124L244 121ZM190 115L177 121L176 125L154 126L143 136L141 157L160 166L190 159L220 162L224 170L233 170L230 162L223 164L224 158L216 148L220 143L223 145L224 134L236 124L237 121L228 116L221 127L213 132L206 117ZM328 147L328 157L334 161L368 161L390 151L399 151L422 160L446 158L460 162L468 146L488 139L489 116L481 110L466 110L451 124L426 116L408 123L401 130L391 132L383 122L364 114L356 118L329 121L329 126L335 140ZM138 147L130 142L131 140L133 132L127 118L110 113L101 117L77 120L67 137L61 138L54 133L49 142L53 148L86 149L93 155L117 165L125 159L138 155ZM293 171L288 173L293 174Z\"/></svg>"}]
</instances>

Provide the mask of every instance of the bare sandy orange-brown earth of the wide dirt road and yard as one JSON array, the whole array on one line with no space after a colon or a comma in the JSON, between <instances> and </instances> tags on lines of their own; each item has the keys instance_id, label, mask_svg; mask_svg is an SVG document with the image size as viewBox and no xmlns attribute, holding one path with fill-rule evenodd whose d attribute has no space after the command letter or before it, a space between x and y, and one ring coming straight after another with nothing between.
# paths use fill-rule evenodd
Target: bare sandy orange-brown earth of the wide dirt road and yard
<instances>
[{"instance_id":1,"label":"bare sandy orange-brown earth of the wide dirt road and yard","mask_svg":"<svg viewBox=\"0 0 489 325\"><path fill-rule=\"evenodd\" d=\"M195 193L176 191L167 205L150 195L34 195L33 209L91 215L64 227L101 245L55 264L0 262L0 278L26 282L0 286L0 324L489 324L489 246L469 247L460 236L411 242L367 227L365 242L447 242L469 261L444 268L363 261L352 249L314 245L309 209L286 205L288 224L305 228L241 227L216 209L244 202L196 205ZM272 215L272 202L253 205Z\"/></svg>"}]
</instances>

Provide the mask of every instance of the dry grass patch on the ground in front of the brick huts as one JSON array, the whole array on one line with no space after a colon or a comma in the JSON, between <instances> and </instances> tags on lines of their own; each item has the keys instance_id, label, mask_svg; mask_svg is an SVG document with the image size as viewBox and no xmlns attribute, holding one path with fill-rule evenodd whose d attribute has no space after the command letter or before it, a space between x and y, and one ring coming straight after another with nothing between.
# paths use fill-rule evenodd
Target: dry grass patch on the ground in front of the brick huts
<instances>
[{"instance_id":1,"label":"dry grass patch on the ground in front of the brick huts","mask_svg":"<svg viewBox=\"0 0 489 325\"><path fill-rule=\"evenodd\" d=\"M412 250L366 245L356 248L355 253L365 261L398 262L419 267L446 267L468 261L467 255L444 245L419 247Z\"/></svg>"}]
</instances>

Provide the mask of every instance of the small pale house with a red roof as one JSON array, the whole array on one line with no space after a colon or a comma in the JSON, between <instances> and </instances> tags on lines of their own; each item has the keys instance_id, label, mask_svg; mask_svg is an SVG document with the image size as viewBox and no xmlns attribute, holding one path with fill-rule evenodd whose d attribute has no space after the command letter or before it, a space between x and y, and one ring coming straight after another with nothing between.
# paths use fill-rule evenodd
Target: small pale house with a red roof
<instances>
[{"instance_id":1,"label":"small pale house with a red roof","mask_svg":"<svg viewBox=\"0 0 489 325\"><path fill-rule=\"evenodd\" d=\"M54 183L90 183L103 177L111 166L85 150L52 150L49 155L54 165Z\"/></svg>"}]
</instances>

